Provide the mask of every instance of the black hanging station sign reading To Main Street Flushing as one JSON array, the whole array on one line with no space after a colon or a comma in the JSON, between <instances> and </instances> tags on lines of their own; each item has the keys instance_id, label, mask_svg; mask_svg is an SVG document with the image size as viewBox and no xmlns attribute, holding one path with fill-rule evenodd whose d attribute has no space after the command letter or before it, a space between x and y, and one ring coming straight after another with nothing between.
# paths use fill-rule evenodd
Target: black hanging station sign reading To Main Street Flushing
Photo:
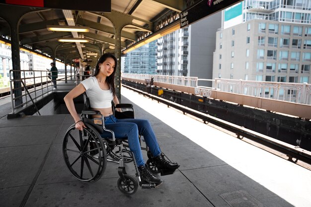
<instances>
[{"instance_id":1,"label":"black hanging station sign reading To Main Street Flushing","mask_svg":"<svg viewBox=\"0 0 311 207\"><path fill-rule=\"evenodd\" d=\"M180 28L186 27L241 0L200 0L180 13Z\"/></svg>"}]
</instances>

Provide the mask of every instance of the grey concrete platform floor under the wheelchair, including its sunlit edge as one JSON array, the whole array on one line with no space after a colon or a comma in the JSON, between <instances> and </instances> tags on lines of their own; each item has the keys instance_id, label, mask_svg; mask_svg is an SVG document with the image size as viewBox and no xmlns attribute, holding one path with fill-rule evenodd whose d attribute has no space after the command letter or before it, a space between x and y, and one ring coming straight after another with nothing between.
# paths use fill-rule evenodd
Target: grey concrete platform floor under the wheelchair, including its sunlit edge
<instances>
[{"instance_id":1,"label":"grey concrete platform floor under the wheelchair, including its sunlit edge","mask_svg":"<svg viewBox=\"0 0 311 207\"><path fill-rule=\"evenodd\" d=\"M108 162L92 184L65 166L70 115L0 119L1 207L310 207L311 171L163 104L122 88L137 118L149 119L161 150L181 166L156 189L132 196L117 188ZM145 158L146 153L144 153ZM132 163L128 173L134 175Z\"/></svg>"}]
</instances>

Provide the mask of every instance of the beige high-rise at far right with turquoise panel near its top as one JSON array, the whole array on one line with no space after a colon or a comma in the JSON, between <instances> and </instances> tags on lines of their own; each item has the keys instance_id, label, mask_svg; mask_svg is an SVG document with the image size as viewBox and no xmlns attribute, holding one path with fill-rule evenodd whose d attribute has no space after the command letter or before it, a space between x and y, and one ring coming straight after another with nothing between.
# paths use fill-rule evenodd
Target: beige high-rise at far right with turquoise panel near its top
<instances>
[{"instance_id":1,"label":"beige high-rise at far right with turquoise panel near its top","mask_svg":"<svg viewBox=\"0 0 311 207\"><path fill-rule=\"evenodd\" d=\"M213 78L311 82L311 0L244 0L222 25Z\"/></svg>"}]
</instances>

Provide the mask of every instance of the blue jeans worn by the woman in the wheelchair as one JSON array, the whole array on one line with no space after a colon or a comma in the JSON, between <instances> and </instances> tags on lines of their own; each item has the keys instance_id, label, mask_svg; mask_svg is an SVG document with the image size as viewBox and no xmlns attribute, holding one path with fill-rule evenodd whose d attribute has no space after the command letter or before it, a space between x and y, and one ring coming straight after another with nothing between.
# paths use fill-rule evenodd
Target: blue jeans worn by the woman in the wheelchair
<instances>
[{"instance_id":1,"label":"blue jeans worn by the woman in the wheelchair","mask_svg":"<svg viewBox=\"0 0 311 207\"><path fill-rule=\"evenodd\" d=\"M150 122L145 119L117 119L110 115L104 117L105 128L114 132L115 138L127 138L130 150L133 152L137 166L145 164L141 145L139 142L139 135L144 136L147 146L149 147L153 156L158 156L161 151L156 140L156 135L150 125ZM107 137L109 135L104 132L101 136ZM111 134L110 134L111 137Z\"/></svg>"}]
</instances>

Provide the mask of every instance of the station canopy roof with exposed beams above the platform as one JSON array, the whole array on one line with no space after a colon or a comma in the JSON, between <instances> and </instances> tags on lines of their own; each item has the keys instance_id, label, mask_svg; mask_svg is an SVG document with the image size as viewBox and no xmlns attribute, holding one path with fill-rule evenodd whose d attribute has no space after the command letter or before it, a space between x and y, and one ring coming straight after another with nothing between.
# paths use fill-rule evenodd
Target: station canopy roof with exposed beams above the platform
<instances>
[{"instance_id":1,"label":"station canopy roof with exposed beams above the platform","mask_svg":"<svg viewBox=\"0 0 311 207\"><path fill-rule=\"evenodd\" d=\"M21 46L52 57L51 48L58 45L56 58L63 61L65 56L68 59L86 59L95 58L103 52L114 53L115 31L120 28L120 47L123 53L138 44L146 44L177 30L180 28L180 12L196 0L111 0L111 12L20 6L1 3L2 1L0 0L2 41L10 40L10 20L16 18L16 13L24 13L20 15L18 24ZM83 26L89 27L89 31L50 31L47 25ZM59 42L60 38L83 38L88 43ZM147 39L150 41L146 41Z\"/></svg>"}]
</instances>

